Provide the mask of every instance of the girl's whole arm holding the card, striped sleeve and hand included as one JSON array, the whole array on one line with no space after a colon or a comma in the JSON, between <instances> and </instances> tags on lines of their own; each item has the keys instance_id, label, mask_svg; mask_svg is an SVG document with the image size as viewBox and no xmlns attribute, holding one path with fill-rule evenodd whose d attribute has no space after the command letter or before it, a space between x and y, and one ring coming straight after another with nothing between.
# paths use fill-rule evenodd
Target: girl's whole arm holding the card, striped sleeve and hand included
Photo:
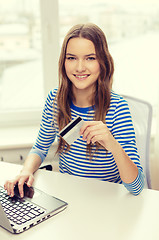
<instances>
[{"instance_id":1,"label":"girl's whole arm holding the card, striped sleeve and hand included","mask_svg":"<svg viewBox=\"0 0 159 240\"><path fill-rule=\"evenodd\" d=\"M98 142L113 154L124 186L137 195L144 187L144 174L130 110L123 98L118 101L115 99L110 109L107 117L111 119L112 125L109 124L109 128L101 121L90 121L83 125L81 134L87 143Z\"/></svg>"}]
</instances>

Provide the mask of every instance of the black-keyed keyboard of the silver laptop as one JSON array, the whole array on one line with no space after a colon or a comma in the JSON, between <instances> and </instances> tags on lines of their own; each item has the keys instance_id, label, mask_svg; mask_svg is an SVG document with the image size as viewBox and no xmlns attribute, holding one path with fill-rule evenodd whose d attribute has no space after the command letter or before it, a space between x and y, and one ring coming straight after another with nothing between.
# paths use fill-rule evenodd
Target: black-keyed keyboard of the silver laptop
<instances>
[{"instance_id":1,"label":"black-keyed keyboard of the silver laptop","mask_svg":"<svg viewBox=\"0 0 159 240\"><path fill-rule=\"evenodd\" d=\"M18 198L10 197L4 188L0 187L0 202L7 218L15 224L21 225L33 218L40 216L45 211L39 206Z\"/></svg>"}]
</instances>

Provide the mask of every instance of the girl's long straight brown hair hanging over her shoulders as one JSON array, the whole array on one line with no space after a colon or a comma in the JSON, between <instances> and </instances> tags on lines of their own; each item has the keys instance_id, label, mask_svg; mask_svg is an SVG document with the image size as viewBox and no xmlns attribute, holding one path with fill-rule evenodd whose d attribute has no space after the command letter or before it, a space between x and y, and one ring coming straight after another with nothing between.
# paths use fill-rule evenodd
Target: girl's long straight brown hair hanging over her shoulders
<instances>
[{"instance_id":1,"label":"girl's long straight brown hair hanging over her shoulders","mask_svg":"<svg viewBox=\"0 0 159 240\"><path fill-rule=\"evenodd\" d=\"M65 71L66 49L70 39L79 37L93 42L97 60L100 64L100 75L96 81L96 91L92 97L92 105L95 105L94 120L105 122L105 116L110 105L110 86L113 79L114 63L108 50L105 34L95 24L75 25L70 29L63 41L59 58L59 89L57 94L59 130L71 121L70 103L74 97L72 83ZM69 146L61 138L57 151L62 151L65 147L68 149ZM88 148L90 149L90 147Z\"/></svg>"}]
</instances>

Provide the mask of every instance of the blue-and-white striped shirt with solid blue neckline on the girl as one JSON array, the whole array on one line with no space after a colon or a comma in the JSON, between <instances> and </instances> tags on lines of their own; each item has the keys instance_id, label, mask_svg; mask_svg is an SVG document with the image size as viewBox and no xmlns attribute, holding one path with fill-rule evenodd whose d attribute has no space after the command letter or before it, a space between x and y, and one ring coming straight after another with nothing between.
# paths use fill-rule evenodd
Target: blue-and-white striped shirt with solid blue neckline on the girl
<instances>
[{"instance_id":1,"label":"blue-and-white striped shirt with solid blue neckline on the girl","mask_svg":"<svg viewBox=\"0 0 159 240\"><path fill-rule=\"evenodd\" d=\"M30 153L36 153L44 161L55 137L59 140L59 128L57 124L57 102L55 96L57 89L51 91L45 102L39 134ZM55 100L55 101L54 101ZM84 121L92 121L95 110L93 107L80 108L73 103L70 105L71 117L80 116ZM100 180L123 183L133 193L139 194L144 186L144 174L140 165L135 132L131 114L126 100L115 92L111 92L110 107L105 117L108 129L114 138L120 143L124 151L138 168L138 176L132 183L122 182L119 171L111 152L104 148L96 150L92 147L91 159L88 157L86 141L80 136L71 146L69 151L59 154L59 170L61 173L73 174L80 177L98 178Z\"/></svg>"}]
</instances>

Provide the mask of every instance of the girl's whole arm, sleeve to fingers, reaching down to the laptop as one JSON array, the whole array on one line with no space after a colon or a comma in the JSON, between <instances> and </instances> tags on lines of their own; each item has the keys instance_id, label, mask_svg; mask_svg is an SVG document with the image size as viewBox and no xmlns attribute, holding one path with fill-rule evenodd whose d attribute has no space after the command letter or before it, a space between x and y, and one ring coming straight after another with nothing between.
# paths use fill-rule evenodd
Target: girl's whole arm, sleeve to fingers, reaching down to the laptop
<instances>
[{"instance_id":1,"label":"girl's whole arm, sleeve to fingers, reaching down to the laptop","mask_svg":"<svg viewBox=\"0 0 159 240\"><path fill-rule=\"evenodd\" d=\"M50 92L43 109L41 125L36 142L25 160L23 169L15 179L6 181L4 185L8 194L11 196L14 196L14 186L18 183L19 192L21 197L23 197L24 183L26 182L28 186L33 184L33 174L39 168L41 162L44 161L51 144L54 142L56 133L53 123L53 100L54 93Z\"/></svg>"}]
</instances>

